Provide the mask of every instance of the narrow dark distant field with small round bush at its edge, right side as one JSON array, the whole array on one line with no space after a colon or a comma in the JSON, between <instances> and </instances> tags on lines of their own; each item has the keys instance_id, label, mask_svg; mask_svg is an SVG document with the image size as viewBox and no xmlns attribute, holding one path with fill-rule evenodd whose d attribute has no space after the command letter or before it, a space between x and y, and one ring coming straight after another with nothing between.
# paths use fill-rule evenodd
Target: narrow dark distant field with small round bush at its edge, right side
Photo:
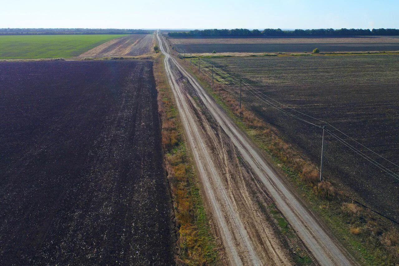
<instances>
[{"instance_id":1,"label":"narrow dark distant field with small round bush at its edge, right side","mask_svg":"<svg viewBox=\"0 0 399 266\"><path fill-rule=\"evenodd\" d=\"M176 44L178 49L186 53L223 52L312 52L319 48L320 52L363 52L363 51L398 51L399 43L282 43L282 44Z\"/></svg>"}]
</instances>

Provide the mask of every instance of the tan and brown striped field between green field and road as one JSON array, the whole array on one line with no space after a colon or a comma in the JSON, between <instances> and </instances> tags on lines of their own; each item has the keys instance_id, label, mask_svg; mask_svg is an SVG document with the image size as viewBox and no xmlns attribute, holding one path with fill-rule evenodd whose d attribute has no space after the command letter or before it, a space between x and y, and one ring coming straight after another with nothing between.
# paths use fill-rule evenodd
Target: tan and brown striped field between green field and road
<instances>
[{"instance_id":1,"label":"tan and brown striped field between green field and road","mask_svg":"<svg viewBox=\"0 0 399 266\"><path fill-rule=\"evenodd\" d=\"M130 34L101 44L79 56L79 58L107 56L140 56L151 51L154 34Z\"/></svg>"}]
</instances>

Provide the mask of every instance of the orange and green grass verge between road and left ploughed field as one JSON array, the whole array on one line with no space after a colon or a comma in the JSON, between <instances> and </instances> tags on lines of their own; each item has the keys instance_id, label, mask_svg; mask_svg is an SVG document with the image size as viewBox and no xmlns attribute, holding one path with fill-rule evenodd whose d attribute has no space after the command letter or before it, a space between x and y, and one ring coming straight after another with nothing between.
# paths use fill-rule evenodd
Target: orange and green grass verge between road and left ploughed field
<instances>
[{"instance_id":1,"label":"orange and green grass verge between road and left ploughed field","mask_svg":"<svg viewBox=\"0 0 399 266\"><path fill-rule=\"evenodd\" d=\"M162 145L174 200L178 265L217 265L219 254L203 206L194 163L187 153L184 130L164 70L163 56L154 59L158 109L162 118Z\"/></svg>"}]
</instances>

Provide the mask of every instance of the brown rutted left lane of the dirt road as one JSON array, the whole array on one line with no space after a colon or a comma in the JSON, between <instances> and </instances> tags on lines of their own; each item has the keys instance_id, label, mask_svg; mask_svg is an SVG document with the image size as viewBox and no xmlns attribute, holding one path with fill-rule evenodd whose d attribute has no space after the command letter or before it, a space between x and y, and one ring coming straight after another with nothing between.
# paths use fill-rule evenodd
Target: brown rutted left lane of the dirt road
<instances>
[{"instance_id":1,"label":"brown rutted left lane of the dirt road","mask_svg":"<svg viewBox=\"0 0 399 266\"><path fill-rule=\"evenodd\" d=\"M160 46L165 51L163 45ZM227 263L292 264L282 243L271 230L271 225L260 214L249 195L244 181L249 174L237 160L231 141L220 127L211 127L198 104L183 89L180 71L170 65L167 52L165 54L167 76L197 164L203 193L217 227L217 235L225 247ZM229 149L225 146L229 146Z\"/></svg>"}]
</instances>

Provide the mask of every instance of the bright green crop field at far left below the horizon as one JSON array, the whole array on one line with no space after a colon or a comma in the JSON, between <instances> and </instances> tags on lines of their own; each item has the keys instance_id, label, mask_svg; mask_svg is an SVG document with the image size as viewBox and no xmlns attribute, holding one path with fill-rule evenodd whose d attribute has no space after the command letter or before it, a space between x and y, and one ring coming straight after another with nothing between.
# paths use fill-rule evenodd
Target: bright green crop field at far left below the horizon
<instances>
[{"instance_id":1,"label":"bright green crop field at far left below the horizon","mask_svg":"<svg viewBox=\"0 0 399 266\"><path fill-rule=\"evenodd\" d=\"M0 36L0 59L71 58L126 35Z\"/></svg>"}]
</instances>

